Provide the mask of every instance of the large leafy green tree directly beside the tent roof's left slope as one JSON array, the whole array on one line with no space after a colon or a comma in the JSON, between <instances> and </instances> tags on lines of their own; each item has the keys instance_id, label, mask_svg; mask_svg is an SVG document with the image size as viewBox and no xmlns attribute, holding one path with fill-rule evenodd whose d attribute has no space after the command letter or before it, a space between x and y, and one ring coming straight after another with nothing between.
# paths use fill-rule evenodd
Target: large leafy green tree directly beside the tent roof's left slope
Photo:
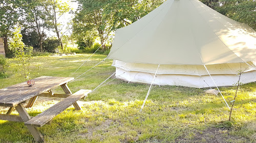
<instances>
[{"instance_id":1,"label":"large leafy green tree directly beside the tent roof's left slope","mask_svg":"<svg viewBox=\"0 0 256 143\"><path fill-rule=\"evenodd\" d=\"M96 31L105 49L105 42L117 28L129 25L162 4L163 0L78 0L79 8L73 19L73 32Z\"/></svg>"}]
</instances>

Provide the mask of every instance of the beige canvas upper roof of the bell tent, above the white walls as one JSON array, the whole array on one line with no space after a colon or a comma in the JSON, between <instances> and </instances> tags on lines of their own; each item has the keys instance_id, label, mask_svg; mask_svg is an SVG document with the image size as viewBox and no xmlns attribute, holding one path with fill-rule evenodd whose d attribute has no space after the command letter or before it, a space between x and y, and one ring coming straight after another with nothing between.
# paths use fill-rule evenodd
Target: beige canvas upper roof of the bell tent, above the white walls
<instances>
[{"instance_id":1,"label":"beige canvas upper roof of the bell tent, above the white walls","mask_svg":"<svg viewBox=\"0 0 256 143\"><path fill-rule=\"evenodd\" d=\"M118 29L108 58L157 65L249 62L256 60L256 32L197 0L167 0Z\"/></svg>"}]
</instances>

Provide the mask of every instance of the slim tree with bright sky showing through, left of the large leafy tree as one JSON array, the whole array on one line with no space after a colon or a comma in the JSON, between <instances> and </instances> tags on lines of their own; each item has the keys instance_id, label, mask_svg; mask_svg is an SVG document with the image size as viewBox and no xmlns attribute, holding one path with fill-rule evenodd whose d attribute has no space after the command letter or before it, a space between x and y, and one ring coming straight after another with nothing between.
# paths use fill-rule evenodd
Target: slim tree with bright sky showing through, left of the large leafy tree
<instances>
[{"instance_id":1,"label":"slim tree with bright sky showing through, left of the large leafy tree","mask_svg":"<svg viewBox=\"0 0 256 143\"><path fill-rule=\"evenodd\" d=\"M67 3L63 3L59 0L48 0L48 1L45 1L44 8L47 11L48 20L49 20L48 24L54 28L54 32L56 33L57 38L60 42L60 47L63 50L63 44L62 44L61 35L60 35L60 31L62 30L63 25L61 25L58 22L58 20L63 14L70 11L70 7L68 6Z\"/></svg>"}]
</instances>

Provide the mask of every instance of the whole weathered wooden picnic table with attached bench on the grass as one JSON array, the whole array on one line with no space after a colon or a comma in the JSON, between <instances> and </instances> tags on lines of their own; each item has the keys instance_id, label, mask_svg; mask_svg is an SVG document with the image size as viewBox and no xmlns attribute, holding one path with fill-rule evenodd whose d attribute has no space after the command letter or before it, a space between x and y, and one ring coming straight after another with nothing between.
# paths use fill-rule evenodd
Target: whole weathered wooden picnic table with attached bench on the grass
<instances>
[{"instance_id":1,"label":"whole weathered wooden picnic table with attached bench on the grass","mask_svg":"<svg viewBox=\"0 0 256 143\"><path fill-rule=\"evenodd\" d=\"M41 76L33 79L35 81L33 87L29 87L27 82L22 82L0 89L0 106L10 107L6 114L0 114L0 120L24 122L35 141L44 142L44 137L37 130L37 127L50 124L55 116L72 104L76 110L81 110L81 107L76 101L85 98L91 92L91 90L79 90L72 94L67 83L73 79L73 77ZM53 93L51 91L58 86L62 88L64 94ZM41 112L39 115L30 117L25 107L32 107L38 96L64 99L44 112ZM19 115L11 115L14 108Z\"/></svg>"}]
</instances>

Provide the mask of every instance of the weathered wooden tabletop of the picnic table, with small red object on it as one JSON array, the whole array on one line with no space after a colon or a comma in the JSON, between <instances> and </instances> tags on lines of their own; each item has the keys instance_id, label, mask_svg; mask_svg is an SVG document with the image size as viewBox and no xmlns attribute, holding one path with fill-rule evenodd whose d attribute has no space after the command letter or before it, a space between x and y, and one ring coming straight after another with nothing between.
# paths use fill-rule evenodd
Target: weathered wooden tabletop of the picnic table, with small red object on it
<instances>
[{"instance_id":1,"label":"weathered wooden tabletop of the picnic table, with small red object on it","mask_svg":"<svg viewBox=\"0 0 256 143\"><path fill-rule=\"evenodd\" d=\"M35 84L33 87L29 87L26 81L0 89L0 106L15 107L19 103L47 92L73 79L74 77L41 76L34 78Z\"/></svg>"}]
</instances>

